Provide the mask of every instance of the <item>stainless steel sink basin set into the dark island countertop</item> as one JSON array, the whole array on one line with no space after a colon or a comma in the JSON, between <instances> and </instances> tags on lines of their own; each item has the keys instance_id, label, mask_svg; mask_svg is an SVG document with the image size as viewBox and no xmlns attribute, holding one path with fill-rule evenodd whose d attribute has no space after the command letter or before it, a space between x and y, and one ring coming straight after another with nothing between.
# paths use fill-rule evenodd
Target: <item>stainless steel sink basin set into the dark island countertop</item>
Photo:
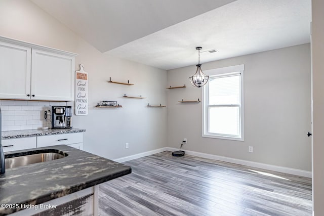
<instances>
[{"instance_id":1,"label":"stainless steel sink basin set into the dark island countertop","mask_svg":"<svg viewBox=\"0 0 324 216\"><path fill-rule=\"evenodd\" d=\"M46 162L51 160L60 159L66 157L68 154L63 153L59 150L49 149L47 152L35 151L35 152L23 152L22 156L13 156L13 155L6 155L6 168L15 168L18 166L25 166L32 163L40 163Z\"/></svg>"}]
</instances>

